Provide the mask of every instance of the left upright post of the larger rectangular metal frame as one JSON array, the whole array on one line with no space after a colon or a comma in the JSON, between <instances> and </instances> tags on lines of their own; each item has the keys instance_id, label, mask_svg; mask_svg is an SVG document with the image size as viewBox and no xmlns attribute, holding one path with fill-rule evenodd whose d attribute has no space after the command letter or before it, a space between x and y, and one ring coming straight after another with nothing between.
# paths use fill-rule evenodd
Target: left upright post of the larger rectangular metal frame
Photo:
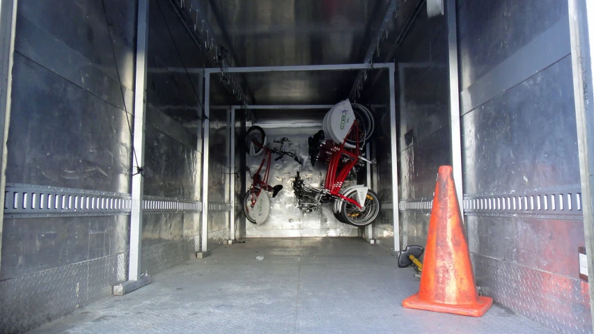
<instances>
[{"instance_id":1,"label":"left upright post of the larger rectangular metal frame","mask_svg":"<svg viewBox=\"0 0 594 334\"><path fill-rule=\"evenodd\" d=\"M210 130L210 72L204 73L204 120L202 122L202 246L197 257L208 252L208 145Z\"/></svg>"}]
</instances>

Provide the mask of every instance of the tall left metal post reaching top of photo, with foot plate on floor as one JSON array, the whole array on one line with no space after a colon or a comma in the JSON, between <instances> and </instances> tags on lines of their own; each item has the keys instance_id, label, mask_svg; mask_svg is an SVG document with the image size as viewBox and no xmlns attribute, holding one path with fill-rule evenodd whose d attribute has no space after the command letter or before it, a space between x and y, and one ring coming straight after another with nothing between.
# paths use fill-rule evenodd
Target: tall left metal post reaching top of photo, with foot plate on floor
<instances>
[{"instance_id":1,"label":"tall left metal post reaching top of photo, with foot plate on floor","mask_svg":"<svg viewBox=\"0 0 594 334\"><path fill-rule=\"evenodd\" d=\"M132 138L132 168L144 166L144 131L146 125L146 53L148 50L148 1L138 2L136 33L136 78L134 79L134 135ZM127 117L127 116L126 116ZM116 285L114 294L125 294L150 283L141 278L143 175L132 175L132 212L130 213L130 267L128 281Z\"/></svg>"}]
</instances>

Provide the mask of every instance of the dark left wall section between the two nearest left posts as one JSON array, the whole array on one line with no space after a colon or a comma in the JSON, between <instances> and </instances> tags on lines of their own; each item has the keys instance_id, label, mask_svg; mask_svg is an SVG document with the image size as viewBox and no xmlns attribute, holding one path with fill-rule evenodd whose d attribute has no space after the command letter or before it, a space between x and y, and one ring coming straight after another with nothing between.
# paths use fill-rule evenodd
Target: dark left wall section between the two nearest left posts
<instances>
[{"instance_id":1,"label":"dark left wall section between the two nearest left posts","mask_svg":"<svg viewBox=\"0 0 594 334\"><path fill-rule=\"evenodd\" d=\"M203 74L192 36L168 0L150 0L146 93L144 201L201 200ZM155 275L188 260L200 244L200 214L143 212L141 271Z\"/></svg>"}]
</instances>

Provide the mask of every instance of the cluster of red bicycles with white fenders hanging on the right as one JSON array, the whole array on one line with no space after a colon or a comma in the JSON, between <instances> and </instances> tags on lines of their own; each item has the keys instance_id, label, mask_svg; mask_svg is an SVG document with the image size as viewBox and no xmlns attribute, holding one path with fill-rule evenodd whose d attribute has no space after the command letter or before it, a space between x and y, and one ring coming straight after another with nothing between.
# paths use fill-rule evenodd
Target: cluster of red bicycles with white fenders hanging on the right
<instances>
[{"instance_id":1,"label":"cluster of red bicycles with white fenders hanging on the right","mask_svg":"<svg viewBox=\"0 0 594 334\"><path fill-rule=\"evenodd\" d=\"M345 102L348 103L347 100ZM336 129L347 131L342 143L336 143L336 134L340 132L332 129L331 125L325 125L325 129L327 132L334 132L334 135L331 134L334 139L327 140L324 130L320 130L309 139L311 163L325 161L328 164L324 188L305 183L299 172L292 186L295 190L296 204L302 212L315 212L323 205L332 203L332 212L338 221L355 226L366 226L373 223L380 213L380 201L377 195L364 185L342 188L347 177L354 174L356 166L362 166L365 162L375 164L375 161L370 161L361 154L360 143L364 143L369 134L361 133L361 122L355 117L350 103L345 104L345 102L341 102L341 107L335 112L337 116L334 120ZM329 113L333 111L334 109ZM368 110L366 113L371 116ZM327 119L331 122L332 117L325 118L325 122Z\"/></svg>"}]
</instances>

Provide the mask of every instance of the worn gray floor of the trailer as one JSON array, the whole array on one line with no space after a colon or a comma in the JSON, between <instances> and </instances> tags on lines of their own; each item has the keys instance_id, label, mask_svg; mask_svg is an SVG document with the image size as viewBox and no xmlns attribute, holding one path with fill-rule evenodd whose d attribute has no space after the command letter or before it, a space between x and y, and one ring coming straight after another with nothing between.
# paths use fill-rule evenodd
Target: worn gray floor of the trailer
<instances>
[{"instance_id":1,"label":"worn gray floor of the trailer","mask_svg":"<svg viewBox=\"0 0 594 334\"><path fill-rule=\"evenodd\" d=\"M248 239L31 333L551 333L497 305L480 318L402 308L413 273L360 238Z\"/></svg>"}]
</instances>

